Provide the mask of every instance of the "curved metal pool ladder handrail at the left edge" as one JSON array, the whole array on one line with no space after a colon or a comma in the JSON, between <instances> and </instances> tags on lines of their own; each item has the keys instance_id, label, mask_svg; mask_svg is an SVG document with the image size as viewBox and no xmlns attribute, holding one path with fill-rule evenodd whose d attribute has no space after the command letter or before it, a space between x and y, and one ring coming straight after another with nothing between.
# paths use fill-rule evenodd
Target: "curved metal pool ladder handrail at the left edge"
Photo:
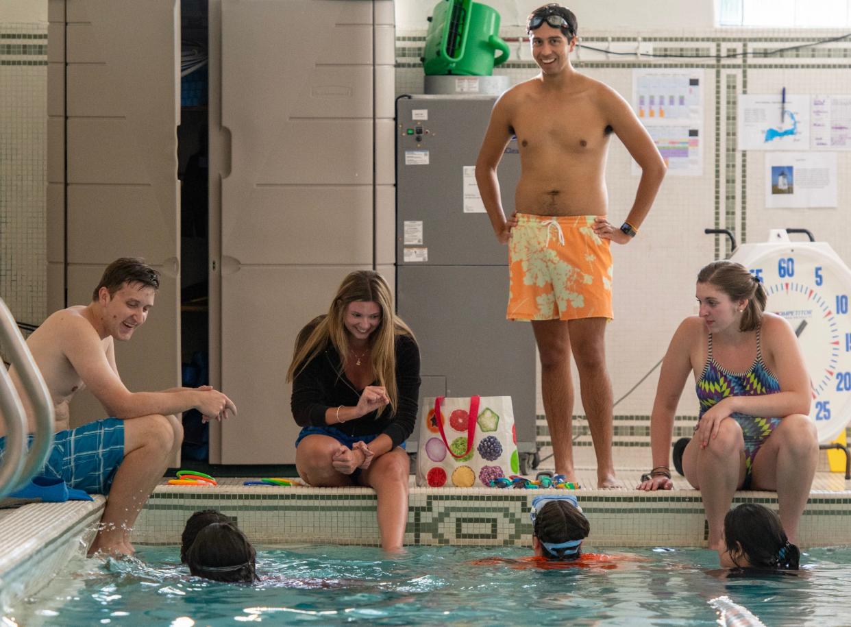
<instances>
[{"instance_id":1,"label":"curved metal pool ladder handrail at the left edge","mask_svg":"<svg viewBox=\"0 0 851 627\"><path fill-rule=\"evenodd\" d=\"M26 411L11 376L6 368L0 367L0 412L6 420L5 455L0 466L0 499L3 499L29 482L47 461L54 440L55 412L48 386L3 299L0 299L0 342L9 351L9 362L20 378L36 418L35 437L27 455Z\"/></svg>"}]
</instances>

